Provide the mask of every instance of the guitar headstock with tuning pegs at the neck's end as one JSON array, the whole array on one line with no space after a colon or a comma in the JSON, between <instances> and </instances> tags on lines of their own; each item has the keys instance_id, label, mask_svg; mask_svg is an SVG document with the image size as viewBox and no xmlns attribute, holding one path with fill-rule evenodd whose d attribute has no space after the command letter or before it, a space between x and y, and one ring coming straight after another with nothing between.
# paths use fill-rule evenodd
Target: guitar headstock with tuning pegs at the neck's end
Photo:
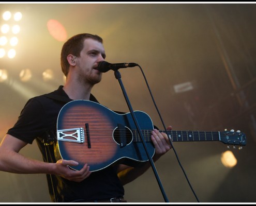
<instances>
[{"instance_id":1,"label":"guitar headstock with tuning pegs at the neck's end","mask_svg":"<svg viewBox=\"0 0 256 206\"><path fill-rule=\"evenodd\" d=\"M239 149L242 148L241 145L246 145L245 133L237 130L236 132L232 129L228 131L220 132L220 141L228 145L240 145Z\"/></svg>"}]
</instances>

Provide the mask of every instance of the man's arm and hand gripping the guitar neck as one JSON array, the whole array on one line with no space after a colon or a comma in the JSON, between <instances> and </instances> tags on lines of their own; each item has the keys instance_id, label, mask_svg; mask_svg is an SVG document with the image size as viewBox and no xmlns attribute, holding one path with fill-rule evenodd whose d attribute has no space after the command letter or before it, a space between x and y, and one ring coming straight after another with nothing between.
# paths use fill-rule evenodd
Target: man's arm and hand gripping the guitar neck
<instances>
[{"instance_id":1,"label":"man's arm and hand gripping the guitar neck","mask_svg":"<svg viewBox=\"0 0 256 206\"><path fill-rule=\"evenodd\" d=\"M167 128L168 130L171 130L172 127L169 126ZM157 129L154 129L152 131L151 140L155 146L155 155L153 157L153 161L157 161L162 155L164 155L166 152L168 152L171 149L171 145L169 142L169 138L167 134L159 132ZM134 179L138 178L142 174L145 173L145 171L150 167L150 162L146 162L142 166L139 167L129 167L127 165L119 165L118 166L118 177L123 183L123 185L133 181Z\"/></svg>"}]
</instances>

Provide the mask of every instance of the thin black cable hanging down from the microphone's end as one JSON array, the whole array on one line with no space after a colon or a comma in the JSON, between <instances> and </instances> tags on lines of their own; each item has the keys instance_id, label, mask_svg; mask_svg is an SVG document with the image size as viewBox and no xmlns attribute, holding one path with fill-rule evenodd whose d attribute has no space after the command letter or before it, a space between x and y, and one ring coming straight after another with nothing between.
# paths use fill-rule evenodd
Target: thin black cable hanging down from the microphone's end
<instances>
[{"instance_id":1,"label":"thin black cable hanging down from the microphone's end","mask_svg":"<svg viewBox=\"0 0 256 206\"><path fill-rule=\"evenodd\" d=\"M197 195L195 194L192 185L190 184L190 181L189 181L189 179L188 179L188 177L187 177L187 175L186 175L186 172L185 172L185 170L184 170L182 164L181 164L180 161L179 161L177 152L176 152L175 148L173 147L173 144L172 144L172 141L171 141L169 132L168 132L168 130L165 128L163 119L162 119L161 114L160 114L160 112L159 112L159 110L158 110L158 108L157 108L156 102L155 102L155 100L154 100L154 97L153 97L153 95L152 95L152 92L151 92L151 90L150 90L150 88L149 88L149 85L148 85L148 83L147 83L147 79L146 79L146 77L145 77L145 74L144 74L144 72L143 72L141 66L140 66L139 64L137 64L137 65L140 67L140 70L141 70L141 72L142 72L142 75L143 75L143 77L144 77L144 79L145 79L145 82L146 82L146 85L147 85L147 89L148 89L148 91L149 91L149 93L150 93L150 96L151 96L151 98L152 98L152 100L153 100L153 103L154 103L154 106L155 106L155 108L156 108L156 110L157 110L157 113L158 113L158 115L159 115L159 117L160 117L160 119L161 119L161 122L162 122L162 125L163 125L163 127L164 127L164 130L165 130L165 132L168 134L168 137L169 137L168 139L169 139L169 142L170 142L170 144L171 144L171 146L172 146L172 149L173 149L173 151L174 151L174 153L175 153L175 156L176 156L176 158L177 158L178 164L179 164L180 168L182 168L183 174L185 175L186 180L187 180L187 182L188 182L188 184L189 184L189 186L190 186L190 188L191 188L191 190L192 190L192 192L193 192L195 198L196 198L197 201L199 202L199 199L198 199Z\"/></svg>"}]
</instances>

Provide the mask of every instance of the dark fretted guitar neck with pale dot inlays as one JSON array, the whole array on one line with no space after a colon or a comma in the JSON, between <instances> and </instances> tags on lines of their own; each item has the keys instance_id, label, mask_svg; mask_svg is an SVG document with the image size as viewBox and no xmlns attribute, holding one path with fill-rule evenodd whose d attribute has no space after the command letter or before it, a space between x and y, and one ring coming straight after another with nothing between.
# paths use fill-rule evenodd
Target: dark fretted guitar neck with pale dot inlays
<instances>
[{"instance_id":1,"label":"dark fretted guitar neck with pale dot inlays","mask_svg":"<svg viewBox=\"0 0 256 206\"><path fill-rule=\"evenodd\" d=\"M142 130L145 141L150 142L152 130ZM160 132L166 133L164 130L159 130ZM168 131L169 137L173 142L193 142L193 141L220 141L220 132L207 132L207 131ZM133 131L135 136L135 142L141 142L140 135L138 131Z\"/></svg>"}]
</instances>

